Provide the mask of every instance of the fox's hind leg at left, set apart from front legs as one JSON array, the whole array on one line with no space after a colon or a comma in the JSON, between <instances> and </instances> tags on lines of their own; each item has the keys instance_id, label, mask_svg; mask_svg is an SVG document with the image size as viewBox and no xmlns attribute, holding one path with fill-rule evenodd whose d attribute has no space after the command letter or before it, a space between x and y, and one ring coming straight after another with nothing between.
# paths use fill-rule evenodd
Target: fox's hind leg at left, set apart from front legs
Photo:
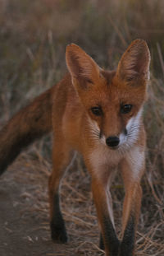
<instances>
[{"instance_id":1,"label":"fox's hind leg at left, set apart from front legs","mask_svg":"<svg viewBox=\"0 0 164 256\"><path fill-rule=\"evenodd\" d=\"M52 240L66 243L66 226L60 209L59 187L62 175L71 161L71 148L62 139L56 139L52 150L52 175L49 177L48 190L50 202L50 227Z\"/></svg>"}]
</instances>

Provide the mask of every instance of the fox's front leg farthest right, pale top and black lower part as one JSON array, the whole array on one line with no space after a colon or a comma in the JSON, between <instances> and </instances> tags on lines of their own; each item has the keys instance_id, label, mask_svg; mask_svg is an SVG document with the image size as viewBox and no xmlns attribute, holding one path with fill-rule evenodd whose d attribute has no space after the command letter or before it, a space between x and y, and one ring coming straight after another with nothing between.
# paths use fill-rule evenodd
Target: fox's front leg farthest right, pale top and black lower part
<instances>
[{"instance_id":1,"label":"fox's front leg farthest right, pale top and black lower part","mask_svg":"<svg viewBox=\"0 0 164 256\"><path fill-rule=\"evenodd\" d=\"M141 159L142 162L139 162ZM140 159L137 157L131 164L130 161L124 160L121 164L121 173L125 184L125 199L123 205L122 240L119 256L134 255L135 233L139 221L142 198L140 179L144 172L144 156L140 157Z\"/></svg>"}]
</instances>

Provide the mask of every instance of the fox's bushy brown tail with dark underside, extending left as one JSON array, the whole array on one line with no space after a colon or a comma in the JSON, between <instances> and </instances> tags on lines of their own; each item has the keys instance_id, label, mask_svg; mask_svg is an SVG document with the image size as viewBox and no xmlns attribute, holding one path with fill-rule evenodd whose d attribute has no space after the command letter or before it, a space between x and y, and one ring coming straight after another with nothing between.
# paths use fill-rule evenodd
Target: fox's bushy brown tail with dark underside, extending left
<instances>
[{"instance_id":1,"label":"fox's bushy brown tail with dark underside, extending left","mask_svg":"<svg viewBox=\"0 0 164 256\"><path fill-rule=\"evenodd\" d=\"M52 91L45 91L15 114L0 131L0 175L21 150L52 130Z\"/></svg>"}]
</instances>

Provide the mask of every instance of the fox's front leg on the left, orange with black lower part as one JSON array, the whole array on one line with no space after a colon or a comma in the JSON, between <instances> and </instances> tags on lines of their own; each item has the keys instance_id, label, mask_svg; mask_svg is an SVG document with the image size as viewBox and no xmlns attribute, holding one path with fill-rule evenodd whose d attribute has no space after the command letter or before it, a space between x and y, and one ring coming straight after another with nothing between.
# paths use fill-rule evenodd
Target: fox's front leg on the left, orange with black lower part
<instances>
[{"instance_id":1,"label":"fox's front leg on the left, orange with black lower part","mask_svg":"<svg viewBox=\"0 0 164 256\"><path fill-rule=\"evenodd\" d=\"M87 166L89 169L89 166ZM107 166L105 167L105 169ZM98 222L101 228L100 246L105 247L106 256L117 256L119 240L116 236L112 215L112 198L109 191L108 179L110 170L91 170L93 200L97 209Z\"/></svg>"}]
</instances>

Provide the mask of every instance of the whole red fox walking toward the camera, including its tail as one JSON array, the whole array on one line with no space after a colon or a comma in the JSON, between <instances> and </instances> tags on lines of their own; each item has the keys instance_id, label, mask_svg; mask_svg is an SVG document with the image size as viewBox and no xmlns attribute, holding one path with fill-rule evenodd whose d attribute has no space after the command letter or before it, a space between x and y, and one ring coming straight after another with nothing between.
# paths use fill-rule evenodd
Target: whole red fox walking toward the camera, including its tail
<instances>
[{"instance_id":1,"label":"whole red fox walking toward the camera, including its tail","mask_svg":"<svg viewBox=\"0 0 164 256\"><path fill-rule=\"evenodd\" d=\"M134 255L142 198L150 53L134 40L116 71L105 71L76 44L66 47L68 74L56 86L21 109L0 132L0 173L20 151L53 132L52 175L48 182L52 240L66 243L59 185L74 151L80 151L91 175L93 201L100 226L100 247L107 256ZM121 240L112 213L110 183L119 167L124 184Z\"/></svg>"}]
</instances>

